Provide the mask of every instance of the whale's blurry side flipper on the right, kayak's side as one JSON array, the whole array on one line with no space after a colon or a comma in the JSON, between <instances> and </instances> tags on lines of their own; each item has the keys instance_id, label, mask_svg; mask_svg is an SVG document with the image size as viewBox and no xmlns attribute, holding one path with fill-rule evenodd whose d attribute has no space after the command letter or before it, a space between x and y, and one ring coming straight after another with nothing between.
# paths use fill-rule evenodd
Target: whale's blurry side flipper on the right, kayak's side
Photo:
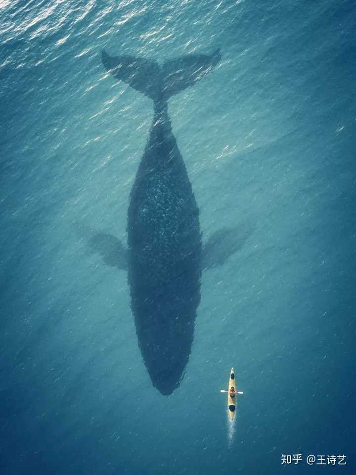
<instances>
[{"instance_id":1,"label":"whale's blurry side flipper on the right, kayak's side","mask_svg":"<svg viewBox=\"0 0 356 475\"><path fill-rule=\"evenodd\" d=\"M203 269L212 269L225 264L232 254L241 249L252 231L251 228L247 229L246 226L222 228L216 231L204 243Z\"/></svg>"}]
</instances>

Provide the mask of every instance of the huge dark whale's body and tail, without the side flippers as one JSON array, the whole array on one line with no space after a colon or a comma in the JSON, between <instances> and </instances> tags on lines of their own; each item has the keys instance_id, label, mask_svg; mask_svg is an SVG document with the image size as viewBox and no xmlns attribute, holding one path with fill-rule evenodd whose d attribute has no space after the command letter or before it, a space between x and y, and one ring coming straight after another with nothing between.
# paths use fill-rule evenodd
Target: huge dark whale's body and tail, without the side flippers
<instances>
[{"instance_id":1,"label":"huge dark whale's body and tail, without the side flippers","mask_svg":"<svg viewBox=\"0 0 356 475\"><path fill-rule=\"evenodd\" d=\"M138 345L153 386L164 395L178 387L188 363L202 275L199 209L172 132L168 99L204 77L220 59L217 49L160 66L102 51L104 67L154 105L130 194L127 269Z\"/></svg>"}]
</instances>

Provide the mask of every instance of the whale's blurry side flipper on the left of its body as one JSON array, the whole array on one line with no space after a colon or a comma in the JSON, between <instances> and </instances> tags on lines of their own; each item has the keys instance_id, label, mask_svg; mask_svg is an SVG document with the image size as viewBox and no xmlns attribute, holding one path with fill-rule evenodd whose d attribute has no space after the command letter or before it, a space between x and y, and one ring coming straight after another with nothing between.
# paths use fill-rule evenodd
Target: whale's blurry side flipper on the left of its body
<instances>
[{"instance_id":1,"label":"whale's blurry side flipper on the left of its body","mask_svg":"<svg viewBox=\"0 0 356 475\"><path fill-rule=\"evenodd\" d=\"M101 255L108 266L127 270L127 249L116 236L92 231L89 245L94 252Z\"/></svg>"}]
</instances>

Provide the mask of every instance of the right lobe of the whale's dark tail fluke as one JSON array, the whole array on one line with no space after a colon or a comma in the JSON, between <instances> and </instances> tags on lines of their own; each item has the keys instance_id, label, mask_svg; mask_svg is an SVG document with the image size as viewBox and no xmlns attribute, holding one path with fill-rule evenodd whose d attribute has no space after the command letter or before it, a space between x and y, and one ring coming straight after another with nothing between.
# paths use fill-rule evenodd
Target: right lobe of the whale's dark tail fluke
<instances>
[{"instance_id":1,"label":"right lobe of the whale's dark tail fluke","mask_svg":"<svg viewBox=\"0 0 356 475\"><path fill-rule=\"evenodd\" d=\"M221 60L220 48L213 54L188 54L163 64L164 92L168 99L192 86L209 73Z\"/></svg>"}]
</instances>

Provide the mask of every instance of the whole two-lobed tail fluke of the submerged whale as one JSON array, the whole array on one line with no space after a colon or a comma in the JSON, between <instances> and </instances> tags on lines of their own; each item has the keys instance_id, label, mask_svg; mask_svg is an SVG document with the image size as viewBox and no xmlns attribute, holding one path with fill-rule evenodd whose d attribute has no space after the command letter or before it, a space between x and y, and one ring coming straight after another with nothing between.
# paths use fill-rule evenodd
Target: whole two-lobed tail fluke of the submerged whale
<instances>
[{"instance_id":1,"label":"whole two-lobed tail fluke of the submerged whale","mask_svg":"<svg viewBox=\"0 0 356 475\"><path fill-rule=\"evenodd\" d=\"M220 61L220 48L212 54L188 54L163 63L139 56L110 56L103 49L104 67L115 78L153 99L168 100L208 74Z\"/></svg>"}]
</instances>

